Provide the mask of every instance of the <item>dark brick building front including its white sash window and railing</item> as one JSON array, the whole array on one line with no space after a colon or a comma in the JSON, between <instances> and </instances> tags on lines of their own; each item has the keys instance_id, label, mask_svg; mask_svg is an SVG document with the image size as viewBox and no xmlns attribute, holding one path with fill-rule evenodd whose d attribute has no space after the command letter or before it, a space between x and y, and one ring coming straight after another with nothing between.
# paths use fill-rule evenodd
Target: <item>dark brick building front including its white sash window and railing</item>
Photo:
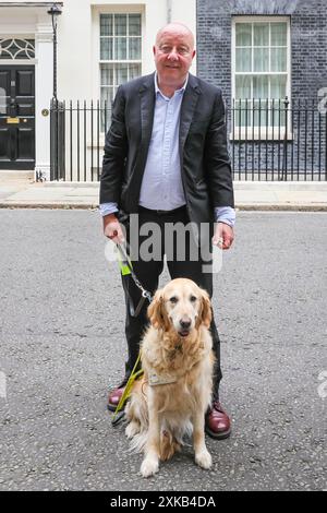
<instances>
[{"instance_id":1,"label":"dark brick building front including its white sash window and railing","mask_svg":"<svg viewBox=\"0 0 327 513\"><path fill-rule=\"evenodd\" d=\"M197 0L197 74L222 88L240 178L327 179L325 0Z\"/></svg>"}]
</instances>

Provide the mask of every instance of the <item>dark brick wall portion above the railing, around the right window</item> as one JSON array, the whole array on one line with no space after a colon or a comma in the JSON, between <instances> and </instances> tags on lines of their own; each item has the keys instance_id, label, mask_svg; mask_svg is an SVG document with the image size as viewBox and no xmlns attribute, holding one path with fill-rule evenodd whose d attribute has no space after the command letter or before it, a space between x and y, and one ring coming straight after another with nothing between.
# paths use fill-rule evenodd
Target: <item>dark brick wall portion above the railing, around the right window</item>
<instances>
[{"instance_id":1,"label":"dark brick wall portion above the railing, around the right window","mask_svg":"<svg viewBox=\"0 0 327 513\"><path fill-rule=\"evenodd\" d=\"M231 92L233 15L291 16L291 88L294 98L316 98L327 87L326 0L197 0L197 75Z\"/></svg>"}]
</instances>

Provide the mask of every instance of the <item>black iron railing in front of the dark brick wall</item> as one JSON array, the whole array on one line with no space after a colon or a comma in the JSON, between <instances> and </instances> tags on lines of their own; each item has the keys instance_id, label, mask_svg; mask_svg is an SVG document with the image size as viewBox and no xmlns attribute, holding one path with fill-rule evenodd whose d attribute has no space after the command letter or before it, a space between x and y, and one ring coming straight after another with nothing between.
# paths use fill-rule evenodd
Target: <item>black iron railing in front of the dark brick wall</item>
<instances>
[{"instance_id":1,"label":"black iron railing in front of the dark brick wall","mask_svg":"<svg viewBox=\"0 0 327 513\"><path fill-rule=\"evenodd\" d=\"M327 180L327 114L316 100L233 100L227 130L237 180Z\"/></svg>"}]
</instances>

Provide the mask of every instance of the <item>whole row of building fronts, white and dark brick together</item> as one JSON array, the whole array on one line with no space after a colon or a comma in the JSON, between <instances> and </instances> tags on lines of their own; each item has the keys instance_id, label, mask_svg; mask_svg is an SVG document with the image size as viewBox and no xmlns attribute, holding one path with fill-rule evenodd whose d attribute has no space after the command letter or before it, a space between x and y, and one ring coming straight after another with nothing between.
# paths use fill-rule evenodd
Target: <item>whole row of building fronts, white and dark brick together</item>
<instances>
[{"instance_id":1,"label":"whole row of building fronts, white and dark brick together","mask_svg":"<svg viewBox=\"0 0 327 513\"><path fill-rule=\"evenodd\" d=\"M325 0L0 0L0 172L98 180L117 88L154 70L169 21L222 90L234 178L327 180Z\"/></svg>"}]
</instances>

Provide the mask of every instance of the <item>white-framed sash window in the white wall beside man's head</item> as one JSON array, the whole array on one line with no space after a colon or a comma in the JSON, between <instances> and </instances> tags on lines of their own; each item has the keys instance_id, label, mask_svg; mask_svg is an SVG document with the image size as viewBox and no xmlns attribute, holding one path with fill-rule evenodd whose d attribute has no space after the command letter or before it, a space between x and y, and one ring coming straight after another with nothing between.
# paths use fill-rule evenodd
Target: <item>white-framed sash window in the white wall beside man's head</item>
<instances>
[{"instance_id":1,"label":"white-framed sash window in the white wall beside man's head","mask_svg":"<svg viewBox=\"0 0 327 513\"><path fill-rule=\"evenodd\" d=\"M118 86L141 75L141 14L100 14L100 90L108 110Z\"/></svg>"}]
</instances>

